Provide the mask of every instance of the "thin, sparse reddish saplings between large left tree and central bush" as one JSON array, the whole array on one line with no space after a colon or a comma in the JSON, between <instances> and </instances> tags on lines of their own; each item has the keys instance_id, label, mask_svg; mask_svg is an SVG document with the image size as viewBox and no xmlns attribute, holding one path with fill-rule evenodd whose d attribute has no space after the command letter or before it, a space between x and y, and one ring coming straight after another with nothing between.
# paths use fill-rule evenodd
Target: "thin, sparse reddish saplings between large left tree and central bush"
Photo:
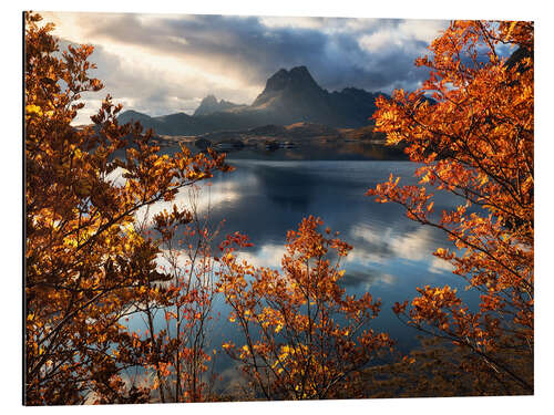
<instances>
[{"instance_id":1,"label":"thin, sparse reddish saplings between large left tree and central bush","mask_svg":"<svg viewBox=\"0 0 554 415\"><path fill-rule=\"evenodd\" d=\"M176 207L173 211L163 210L150 229L146 225L151 215L146 210L137 228L141 234L154 234L161 242L162 269L168 277L163 283L163 301L146 298L134 303L143 313L144 336L153 344L142 366L162 403L217 398L212 353L215 349L211 349L217 294L212 247L220 224L214 226L209 212L201 211L199 196L198 186L189 187L184 212L179 214ZM189 216L185 226L179 225L181 220L172 220L172 216L179 215ZM151 284L155 289L158 282Z\"/></svg>"}]
</instances>

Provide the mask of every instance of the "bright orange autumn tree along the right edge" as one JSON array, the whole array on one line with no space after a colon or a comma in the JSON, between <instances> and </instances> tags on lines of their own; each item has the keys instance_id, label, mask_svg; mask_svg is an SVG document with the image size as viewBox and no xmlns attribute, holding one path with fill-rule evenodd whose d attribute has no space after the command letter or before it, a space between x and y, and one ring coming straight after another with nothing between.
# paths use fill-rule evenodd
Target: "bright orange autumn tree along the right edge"
<instances>
[{"instance_id":1,"label":"bright orange autumn tree along the right edge","mask_svg":"<svg viewBox=\"0 0 554 415\"><path fill-rule=\"evenodd\" d=\"M434 255L480 292L481 303L471 310L455 289L423 287L394 311L460 347L460 367L475 382L532 393L533 23L455 21L429 50L417 60L430 71L423 85L380 97L375 114L388 143L402 143L422 164L419 185L401 186L391 175L368 195L444 231L458 249ZM463 203L435 214L431 189Z\"/></svg>"}]
</instances>

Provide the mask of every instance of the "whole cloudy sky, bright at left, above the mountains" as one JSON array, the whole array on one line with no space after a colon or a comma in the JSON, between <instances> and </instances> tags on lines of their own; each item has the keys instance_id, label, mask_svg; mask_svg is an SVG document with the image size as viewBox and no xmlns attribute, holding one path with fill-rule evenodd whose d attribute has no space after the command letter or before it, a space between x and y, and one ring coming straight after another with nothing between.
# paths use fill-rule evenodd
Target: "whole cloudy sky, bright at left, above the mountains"
<instances>
[{"instance_id":1,"label":"whole cloudy sky, bright at left, above the mountains","mask_svg":"<svg viewBox=\"0 0 554 415\"><path fill-rule=\"evenodd\" d=\"M279 18L216 14L41 12L60 45L95 46L100 93L84 96L89 116L110 93L125 110L192 114L208 94L250 104L279 69L306 65L329 91L355 86L414 90L413 65L445 20Z\"/></svg>"}]
</instances>

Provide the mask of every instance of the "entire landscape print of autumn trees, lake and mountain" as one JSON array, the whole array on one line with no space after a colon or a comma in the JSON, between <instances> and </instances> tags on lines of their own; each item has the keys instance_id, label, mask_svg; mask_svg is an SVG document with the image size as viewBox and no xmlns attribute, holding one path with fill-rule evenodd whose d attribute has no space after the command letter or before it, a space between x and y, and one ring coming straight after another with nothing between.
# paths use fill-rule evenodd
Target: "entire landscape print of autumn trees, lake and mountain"
<instances>
[{"instance_id":1,"label":"entire landscape print of autumn trees, lake and mountain","mask_svg":"<svg viewBox=\"0 0 554 415\"><path fill-rule=\"evenodd\" d=\"M23 405L535 394L533 21L22 19Z\"/></svg>"}]
</instances>

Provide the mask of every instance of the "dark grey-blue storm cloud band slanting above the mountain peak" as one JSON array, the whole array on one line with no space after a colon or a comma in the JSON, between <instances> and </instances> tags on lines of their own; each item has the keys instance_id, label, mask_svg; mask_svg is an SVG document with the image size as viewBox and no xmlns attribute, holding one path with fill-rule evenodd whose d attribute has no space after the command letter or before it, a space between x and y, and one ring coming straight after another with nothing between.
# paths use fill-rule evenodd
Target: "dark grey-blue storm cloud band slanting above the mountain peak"
<instances>
[{"instance_id":1,"label":"dark grey-blue storm cloud band slanting above the mountain peak","mask_svg":"<svg viewBox=\"0 0 554 415\"><path fill-rule=\"evenodd\" d=\"M194 62L209 70L263 85L280 68L306 65L321 86L369 91L417 87L427 76L413 66L427 43L416 38L386 42L375 51L360 39L383 30L400 31L402 20L312 19L314 27L264 24L261 18L187 15L183 19L142 19L121 14L102 19L89 33L109 41L150 48ZM351 24L360 22L360 24ZM352 29L345 29L347 25ZM424 23L423 23L424 24Z\"/></svg>"}]
</instances>

